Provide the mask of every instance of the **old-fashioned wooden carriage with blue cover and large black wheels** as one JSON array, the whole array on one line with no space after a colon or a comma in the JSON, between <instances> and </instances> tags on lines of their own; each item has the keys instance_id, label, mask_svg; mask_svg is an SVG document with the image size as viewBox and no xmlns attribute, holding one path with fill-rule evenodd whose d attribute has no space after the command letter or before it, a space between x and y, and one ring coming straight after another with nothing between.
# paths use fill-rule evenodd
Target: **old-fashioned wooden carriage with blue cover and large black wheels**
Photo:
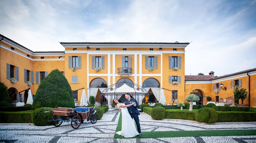
<instances>
[{"instance_id":1,"label":"old-fashioned wooden carriage with blue cover and large black wheels","mask_svg":"<svg viewBox=\"0 0 256 143\"><path fill-rule=\"evenodd\" d=\"M93 107L76 107L75 109L58 107L53 108L52 112L51 123L56 127L60 126L62 122L71 122L71 126L77 129L86 119L86 123L89 120L92 124L97 122L96 110Z\"/></svg>"}]
</instances>

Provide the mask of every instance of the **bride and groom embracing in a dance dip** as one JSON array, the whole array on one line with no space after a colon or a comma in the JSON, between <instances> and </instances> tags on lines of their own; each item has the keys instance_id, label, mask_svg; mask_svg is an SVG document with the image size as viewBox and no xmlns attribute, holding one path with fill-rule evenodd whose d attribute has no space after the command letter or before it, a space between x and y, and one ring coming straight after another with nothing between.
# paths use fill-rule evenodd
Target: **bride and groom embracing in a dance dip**
<instances>
[{"instance_id":1,"label":"bride and groom embracing in a dance dip","mask_svg":"<svg viewBox=\"0 0 256 143\"><path fill-rule=\"evenodd\" d=\"M121 111L122 113L122 130L116 132L118 135L124 136L126 138L141 136L141 126L139 123L139 104L136 99L132 99L129 93L125 94L125 104L119 103L117 99L113 99L113 104ZM133 118L137 125L138 132L136 130Z\"/></svg>"}]
</instances>

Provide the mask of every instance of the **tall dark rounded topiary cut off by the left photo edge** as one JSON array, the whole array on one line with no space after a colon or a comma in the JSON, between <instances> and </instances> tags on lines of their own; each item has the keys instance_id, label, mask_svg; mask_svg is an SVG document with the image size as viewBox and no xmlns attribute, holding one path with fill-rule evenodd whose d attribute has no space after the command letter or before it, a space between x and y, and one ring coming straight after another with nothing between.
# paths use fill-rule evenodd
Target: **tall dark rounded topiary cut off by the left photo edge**
<instances>
[{"instance_id":1,"label":"tall dark rounded topiary cut off by the left photo edge","mask_svg":"<svg viewBox=\"0 0 256 143\"><path fill-rule=\"evenodd\" d=\"M9 96L7 86L0 82L0 107L9 107L12 106L12 100Z\"/></svg>"}]
</instances>

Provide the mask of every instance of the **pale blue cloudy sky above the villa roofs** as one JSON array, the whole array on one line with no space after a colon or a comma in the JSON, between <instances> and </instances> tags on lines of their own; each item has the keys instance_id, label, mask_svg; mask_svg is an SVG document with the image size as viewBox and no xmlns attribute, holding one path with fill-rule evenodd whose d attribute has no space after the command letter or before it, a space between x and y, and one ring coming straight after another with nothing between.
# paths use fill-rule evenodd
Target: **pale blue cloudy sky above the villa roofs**
<instances>
[{"instance_id":1,"label":"pale blue cloudy sky above the villa roofs","mask_svg":"<svg viewBox=\"0 0 256 143\"><path fill-rule=\"evenodd\" d=\"M0 34L32 51L59 42L191 42L185 74L256 68L256 0L0 0Z\"/></svg>"}]
</instances>

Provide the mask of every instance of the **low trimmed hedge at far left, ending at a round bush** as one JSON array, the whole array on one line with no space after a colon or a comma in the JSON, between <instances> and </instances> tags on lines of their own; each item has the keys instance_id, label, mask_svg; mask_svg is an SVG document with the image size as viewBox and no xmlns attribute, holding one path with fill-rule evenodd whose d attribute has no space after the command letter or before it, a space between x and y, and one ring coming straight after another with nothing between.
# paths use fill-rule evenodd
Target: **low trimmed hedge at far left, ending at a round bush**
<instances>
[{"instance_id":1,"label":"low trimmed hedge at far left, ending at a round bush","mask_svg":"<svg viewBox=\"0 0 256 143\"><path fill-rule=\"evenodd\" d=\"M32 110L19 112L0 112L0 123L32 123Z\"/></svg>"}]
</instances>

